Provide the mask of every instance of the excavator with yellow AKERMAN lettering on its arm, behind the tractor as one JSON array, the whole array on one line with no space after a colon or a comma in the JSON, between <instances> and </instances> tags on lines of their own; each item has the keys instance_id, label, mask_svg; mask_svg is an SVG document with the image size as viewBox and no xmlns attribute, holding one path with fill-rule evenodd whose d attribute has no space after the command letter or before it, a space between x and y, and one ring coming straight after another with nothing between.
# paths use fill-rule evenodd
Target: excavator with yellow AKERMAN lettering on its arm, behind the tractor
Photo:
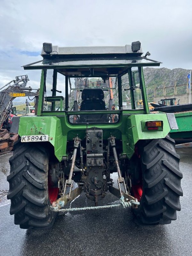
<instances>
[{"instance_id":1,"label":"excavator with yellow AKERMAN lettering on its arm, behind the tractor","mask_svg":"<svg viewBox=\"0 0 192 256\"><path fill-rule=\"evenodd\" d=\"M35 112L38 104L39 90L32 92L32 88L26 87L28 76L16 76L16 78L0 88L0 155L12 150L13 143L18 140L17 133L10 133L11 118L16 115L16 108L12 101L17 97L35 97ZM2 90L3 89L3 90Z\"/></svg>"}]
</instances>

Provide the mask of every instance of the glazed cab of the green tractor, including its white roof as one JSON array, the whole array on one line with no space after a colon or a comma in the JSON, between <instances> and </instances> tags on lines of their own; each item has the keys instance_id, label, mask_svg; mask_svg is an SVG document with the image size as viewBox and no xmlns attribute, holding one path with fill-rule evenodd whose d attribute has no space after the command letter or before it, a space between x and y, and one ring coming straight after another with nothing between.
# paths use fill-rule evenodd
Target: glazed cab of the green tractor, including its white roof
<instances>
[{"instance_id":1,"label":"glazed cab of the green tractor, including its white roof","mask_svg":"<svg viewBox=\"0 0 192 256\"><path fill-rule=\"evenodd\" d=\"M114 114L118 122L122 111L149 113L142 67L159 66L160 62L142 54L139 41L124 47L58 47L44 43L43 60L24 66L42 69L37 115L64 112L70 124L79 125L114 123Z\"/></svg>"}]
</instances>

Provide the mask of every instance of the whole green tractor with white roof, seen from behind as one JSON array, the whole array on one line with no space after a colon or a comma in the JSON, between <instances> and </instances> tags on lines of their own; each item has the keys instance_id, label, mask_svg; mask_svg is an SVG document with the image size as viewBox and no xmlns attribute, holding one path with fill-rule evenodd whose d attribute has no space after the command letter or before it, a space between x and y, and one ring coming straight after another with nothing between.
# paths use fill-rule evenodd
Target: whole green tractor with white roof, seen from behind
<instances>
[{"instance_id":1,"label":"whole green tractor with white roof, seen from behind","mask_svg":"<svg viewBox=\"0 0 192 256\"><path fill-rule=\"evenodd\" d=\"M95 203L85 210L101 208L110 192L142 224L176 220L182 173L169 132L178 127L173 113L149 112L143 67L160 62L142 54L139 41L44 43L43 60L24 66L42 75L35 116L13 118L20 140L10 158L7 197L20 228L51 227L81 192Z\"/></svg>"}]
</instances>

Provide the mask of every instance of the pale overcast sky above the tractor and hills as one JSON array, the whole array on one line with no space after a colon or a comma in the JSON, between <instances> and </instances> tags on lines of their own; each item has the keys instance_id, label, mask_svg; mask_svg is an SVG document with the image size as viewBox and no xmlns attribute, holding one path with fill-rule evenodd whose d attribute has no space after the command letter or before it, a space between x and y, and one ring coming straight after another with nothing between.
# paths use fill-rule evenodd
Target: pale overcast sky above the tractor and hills
<instances>
[{"instance_id":1,"label":"pale overcast sky above the tractor and hills","mask_svg":"<svg viewBox=\"0 0 192 256\"><path fill-rule=\"evenodd\" d=\"M192 69L192 1L0 0L0 87L40 71L21 66L41 60L42 44L122 46L140 41L161 67Z\"/></svg>"}]
</instances>

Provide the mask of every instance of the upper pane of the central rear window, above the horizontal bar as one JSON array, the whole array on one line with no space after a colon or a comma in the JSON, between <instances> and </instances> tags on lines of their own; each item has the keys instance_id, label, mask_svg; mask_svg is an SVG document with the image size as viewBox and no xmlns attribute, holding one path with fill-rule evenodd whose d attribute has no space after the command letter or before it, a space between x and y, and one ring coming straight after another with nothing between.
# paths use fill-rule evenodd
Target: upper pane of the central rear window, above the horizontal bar
<instances>
[{"instance_id":1,"label":"upper pane of the central rear window, above the horizontal bar","mask_svg":"<svg viewBox=\"0 0 192 256\"><path fill-rule=\"evenodd\" d=\"M69 110L100 111L118 108L117 78L69 78Z\"/></svg>"}]
</instances>

